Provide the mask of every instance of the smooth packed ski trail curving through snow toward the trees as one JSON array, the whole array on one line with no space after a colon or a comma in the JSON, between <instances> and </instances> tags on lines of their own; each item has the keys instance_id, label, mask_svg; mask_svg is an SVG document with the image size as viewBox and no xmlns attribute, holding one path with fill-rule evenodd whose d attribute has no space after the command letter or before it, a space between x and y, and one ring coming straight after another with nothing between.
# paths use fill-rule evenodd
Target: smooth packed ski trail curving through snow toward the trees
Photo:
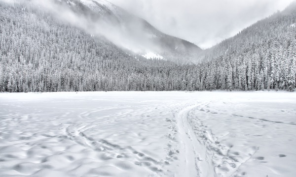
<instances>
[{"instance_id":1,"label":"smooth packed ski trail curving through snow toward the trees","mask_svg":"<svg viewBox=\"0 0 296 177\"><path fill-rule=\"evenodd\" d=\"M191 105L180 111L177 115L179 137L181 141L181 159L178 177L215 177L214 167L211 158L204 147L197 139L192 126L188 122L190 110L208 103Z\"/></svg>"}]
</instances>

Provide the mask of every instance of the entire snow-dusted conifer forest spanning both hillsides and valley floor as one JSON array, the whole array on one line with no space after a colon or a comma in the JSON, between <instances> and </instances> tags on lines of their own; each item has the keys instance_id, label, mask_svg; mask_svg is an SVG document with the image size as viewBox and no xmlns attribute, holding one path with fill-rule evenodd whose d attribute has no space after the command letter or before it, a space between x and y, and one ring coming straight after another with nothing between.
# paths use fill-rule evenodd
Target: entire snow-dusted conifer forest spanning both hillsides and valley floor
<instances>
[{"instance_id":1,"label":"entire snow-dusted conifer forest spanning both hillsides and valley floor","mask_svg":"<svg viewBox=\"0 0 296 177\"><path fill-rule=\"evenodd\" d=\"M296 5L180 65L144 59L23 3L0 0L0 91L294 90Z\"/></svg>"}]
</instances>

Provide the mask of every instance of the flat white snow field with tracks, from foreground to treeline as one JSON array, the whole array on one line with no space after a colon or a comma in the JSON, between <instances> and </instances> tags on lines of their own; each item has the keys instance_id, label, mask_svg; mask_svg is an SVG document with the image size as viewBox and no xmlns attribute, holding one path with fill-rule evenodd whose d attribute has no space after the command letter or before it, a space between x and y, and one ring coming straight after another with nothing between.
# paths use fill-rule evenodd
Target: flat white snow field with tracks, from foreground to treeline
<instances>
[{"instance_id":1,"label":"flat white snow field with tracks, from foreground to treeline","mask_svg":"<svg viewBox=\"0 0 296 177\"><path fill-rule=\"evenodd\" d=\"M296 177L296 92L0 93L0 177Z\"/></svg>"}]
</instances>

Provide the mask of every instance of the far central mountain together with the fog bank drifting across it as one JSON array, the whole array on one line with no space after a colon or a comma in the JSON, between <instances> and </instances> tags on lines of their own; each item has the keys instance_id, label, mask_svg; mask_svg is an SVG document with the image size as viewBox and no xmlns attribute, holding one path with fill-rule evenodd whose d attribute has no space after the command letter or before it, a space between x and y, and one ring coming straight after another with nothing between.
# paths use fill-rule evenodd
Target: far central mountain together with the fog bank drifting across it
<instances>
[{"instance_id":1,"label":"far central mountain together with the fog bank drifting across it","mask_svg":"<svg viewBox=\"0 0 296 177\"><path fill-rule=\"evenodd\" d=\"M196 45L167 35L107 0L31 0L55 18L137 54L166 59L195 56Z\"/></svg>"}]
</instances>

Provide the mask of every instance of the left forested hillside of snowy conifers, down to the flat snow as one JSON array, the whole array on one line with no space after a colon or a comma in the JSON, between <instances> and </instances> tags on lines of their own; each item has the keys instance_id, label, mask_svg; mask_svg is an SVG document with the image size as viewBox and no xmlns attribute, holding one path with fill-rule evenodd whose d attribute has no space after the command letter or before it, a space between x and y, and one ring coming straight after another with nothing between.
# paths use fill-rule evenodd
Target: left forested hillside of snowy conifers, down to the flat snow
<instances>
[{"instance_id":1,"label":"left forested hillside of snowy conifers, down to the flat snow","mask_svg":"<svg viewBox=\"0 0 296 177\"><path fill-rule=\"evenodd\" d=\"M176 64L133 56L24 4L0 9L0 91L182 89Z\"/></svg>"}]
</instances>

